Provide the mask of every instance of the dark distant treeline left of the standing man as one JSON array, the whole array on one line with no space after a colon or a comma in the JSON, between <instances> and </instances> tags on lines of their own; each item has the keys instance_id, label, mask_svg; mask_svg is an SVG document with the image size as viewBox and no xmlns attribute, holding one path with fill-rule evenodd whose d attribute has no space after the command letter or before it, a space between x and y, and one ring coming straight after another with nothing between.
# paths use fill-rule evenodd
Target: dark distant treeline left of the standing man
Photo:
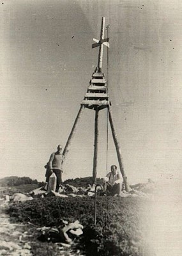
<instances>
[{"instance_id":1,"label":"dark distant treeline left of the standing man","mask_svg":"<svg viewBox=\"0 0 182 256\"><path fill-rule=\"evenodd\" d=\"M31 179L29 177L17 177L17 176L10 176L0 179L0 186L20 186L24 184L37 184L38 186L44 186L45 182L39 182L36 179Z\"/></svg>"}]
</instances>

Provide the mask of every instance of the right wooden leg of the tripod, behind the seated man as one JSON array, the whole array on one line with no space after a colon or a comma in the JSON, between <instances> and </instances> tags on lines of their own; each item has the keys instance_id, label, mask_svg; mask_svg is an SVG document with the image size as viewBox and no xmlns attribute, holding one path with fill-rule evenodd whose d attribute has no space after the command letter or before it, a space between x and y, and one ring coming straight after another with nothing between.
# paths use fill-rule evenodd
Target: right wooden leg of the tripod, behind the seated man
<instances>
[{"instance_id":1,"label":"right wooden leg of the tripod, behind the seated man","mask_svg":"<svg viewBox=\"0 0 182 256\"><path fill-rule=\"evenodd\" d=\"M125 189L128 192L129 191L129 186L128 186L128 183L127 183L127 177L125 176L125 171L124 171L123 164L122 164L121 148L119 146L119 141L118 141L118 138L117 138L117 135L116 135L116 131L114 129L114 122L113 122L113 118L112 118L111 106L108 106L108 110L109 110L110 128L111 128L111 131L112 131L112 137L113 137L113 140L114 140L114 145L116 147L116 153L117 153L117 156L118 156L119 168L120 168L121 174L123 176L123 181L125 182Z\"/></svg>"}]
</instances>

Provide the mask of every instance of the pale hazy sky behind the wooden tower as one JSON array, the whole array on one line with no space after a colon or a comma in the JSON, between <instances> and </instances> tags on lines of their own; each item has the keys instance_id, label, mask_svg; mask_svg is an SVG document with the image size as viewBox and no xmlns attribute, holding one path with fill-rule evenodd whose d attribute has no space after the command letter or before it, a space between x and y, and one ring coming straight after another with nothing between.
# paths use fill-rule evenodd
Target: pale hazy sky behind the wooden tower
<instances>
[{"instance_id":1,"label":"pale hazy sky behind the wooden tower","mask_svg":"<svg viewBox=\"0 0 182 256\"><path fill-rule=\"evenodd\" d=\"M44 180L66 143L95 70L102 17L110 24L109 95L130 183L182 167L181 1L1 0L0 177ZM107 75L107 51L103 72ZM92 175L94 111L85 109L63 179ZM98 177L107 173L106 111ZM109 162L118 165L109 131Z\"/></svg>"}]
</instances>

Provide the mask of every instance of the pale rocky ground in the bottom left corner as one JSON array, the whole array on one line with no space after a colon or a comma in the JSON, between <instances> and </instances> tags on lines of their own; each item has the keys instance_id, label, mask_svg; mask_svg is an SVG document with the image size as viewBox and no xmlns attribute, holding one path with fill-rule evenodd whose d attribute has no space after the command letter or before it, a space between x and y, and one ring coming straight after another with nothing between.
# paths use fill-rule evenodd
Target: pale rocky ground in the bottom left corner
<instances>
[{"instance_id":1,"label":"pale rocky ground in the bottom left corner","mask_svg":"<svg viewBox=\"0 0 182 256\"><path fill-rule=\"evenodd\" d=\"M42 230L32 223L11 223L10 217L4 212L8 204L6 200L0 201L0 255L36 256L41 253L42 256L82 256L80 250L73 250L75 244L41 243L37 237Z\"/></svg>"}]
</instances>

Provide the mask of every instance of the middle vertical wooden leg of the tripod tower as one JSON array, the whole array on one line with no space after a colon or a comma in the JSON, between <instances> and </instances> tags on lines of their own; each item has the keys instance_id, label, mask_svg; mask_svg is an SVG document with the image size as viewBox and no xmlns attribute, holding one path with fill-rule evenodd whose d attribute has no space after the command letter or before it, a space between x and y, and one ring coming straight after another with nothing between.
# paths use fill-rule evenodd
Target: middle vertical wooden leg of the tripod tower
<instances>
[{"instance_id":1,"label":"middle vertical wooden leg of the tripod tower","mask_svg":"<svg viewBox=\"0 0 182 256\"><path fill-rule=\"evenodd\" d=\"M98 153L98 108L95 109L95 140L94 140L94 156L93 156L93 184L96 184L97 153Z\"/></svg>"}]
</instances>

